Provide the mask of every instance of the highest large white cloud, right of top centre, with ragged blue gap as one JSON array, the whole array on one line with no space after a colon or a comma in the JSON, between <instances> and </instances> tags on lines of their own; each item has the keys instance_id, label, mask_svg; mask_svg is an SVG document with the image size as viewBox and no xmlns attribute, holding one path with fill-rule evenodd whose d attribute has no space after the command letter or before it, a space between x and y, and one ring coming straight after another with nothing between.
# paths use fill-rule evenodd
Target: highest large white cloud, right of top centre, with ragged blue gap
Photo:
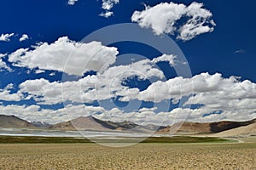
<instances>
[{"instance_id":1,"label":"highest large white cloud, right of top centre, with ragged blue gap","mask_svg":"<svg viewBox=\"0 0 256 170\"><path fill-rule=\"evenodd\" d=\"M143 11L135 11L131 20L141 27L150 27L156 35L177 34L177 39L188 41L194 37L213 31L215 23L212 13L203 8L202 3L160 3L154 7L146 6ZM184 23L180 23L181 19ZM188 18L188 19L187 19Z\"/></svg>"}]
</instances>

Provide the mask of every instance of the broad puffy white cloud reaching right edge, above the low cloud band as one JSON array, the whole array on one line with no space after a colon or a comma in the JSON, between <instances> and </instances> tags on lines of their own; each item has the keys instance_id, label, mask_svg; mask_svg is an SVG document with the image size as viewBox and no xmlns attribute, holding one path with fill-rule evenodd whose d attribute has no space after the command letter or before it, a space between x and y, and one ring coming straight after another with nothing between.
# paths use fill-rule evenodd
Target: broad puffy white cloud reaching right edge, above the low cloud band
<instances>
[{"instance_id":1,"label":"broad puffy white cloud reaching right edge, above the low cloud band","mask_svg":"<svg viewBox=\"0 0 256 170\"><path fill-rule=\"evenodd\" d=\"M204 105L212 111L256 110L256 84L237 77L224 78L216 73L201 73L191 78L175 77L154 82L138 94L138 99L160 102L189 96L186 105Z\"/></svg>"}]
</instances>

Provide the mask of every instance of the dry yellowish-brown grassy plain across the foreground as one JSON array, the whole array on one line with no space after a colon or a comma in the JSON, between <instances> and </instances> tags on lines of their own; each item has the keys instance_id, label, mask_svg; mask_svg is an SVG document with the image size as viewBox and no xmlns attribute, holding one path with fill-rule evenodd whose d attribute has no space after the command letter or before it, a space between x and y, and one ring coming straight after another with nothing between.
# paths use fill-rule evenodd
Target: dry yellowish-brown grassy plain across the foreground
<instances>
[{"instance_id":1,"label":"dry yellowish-brown grassy plain across the foreground","mask_svg":"<svg viewBox=\"0 0 256 170\"><path fill-rule=\"evenodd\" d=\"M256 143L0 144L0 169L256 169Z\"/></svg>"}]
</instances>

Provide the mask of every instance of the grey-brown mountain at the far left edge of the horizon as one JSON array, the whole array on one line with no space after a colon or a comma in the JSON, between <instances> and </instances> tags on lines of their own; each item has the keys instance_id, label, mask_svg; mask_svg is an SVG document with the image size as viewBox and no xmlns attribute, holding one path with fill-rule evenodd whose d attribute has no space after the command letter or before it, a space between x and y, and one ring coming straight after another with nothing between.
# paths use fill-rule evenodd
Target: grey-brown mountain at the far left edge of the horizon
<instances>
[{"instance_id":1,"label":"grey-brown mountain at the far left edge of the horizon","mask_svg":"<svg viewBox=\"0 0 256 170\"><path fill-rule=\"evenodd\" d=\"M33 128L35 126L17 116L0 115L0 127Z\"/></svg>"}]
</instances>

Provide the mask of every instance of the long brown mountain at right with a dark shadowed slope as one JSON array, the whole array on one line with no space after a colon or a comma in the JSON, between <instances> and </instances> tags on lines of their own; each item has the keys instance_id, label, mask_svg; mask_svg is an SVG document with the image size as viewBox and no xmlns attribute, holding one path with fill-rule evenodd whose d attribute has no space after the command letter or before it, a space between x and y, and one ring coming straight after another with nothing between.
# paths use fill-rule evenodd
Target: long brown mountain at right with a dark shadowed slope
<instances>
[{"instance_id":1,"label":"long brown mountain at right with a dark shadowed slope","mask_svg":"<svg viewBox=\"0 0 256 170\"><path fill-rule=\"evenodd\" d=\"M173 126L161 129L160 133L176 132L177 134L195 134L195 133L219 133L236 127L247 126L256 122L256 119L247 122L179 122Z\"/></svg>"}]
</instances>

